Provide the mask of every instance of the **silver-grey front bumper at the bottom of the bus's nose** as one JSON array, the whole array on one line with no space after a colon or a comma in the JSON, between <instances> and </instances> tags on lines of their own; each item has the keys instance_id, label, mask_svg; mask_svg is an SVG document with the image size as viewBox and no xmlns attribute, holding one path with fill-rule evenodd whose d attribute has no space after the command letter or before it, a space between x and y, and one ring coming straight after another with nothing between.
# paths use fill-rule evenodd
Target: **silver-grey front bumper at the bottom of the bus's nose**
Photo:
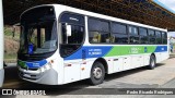
<instances>
[{"instance_id":1,"label":"silver-grey front bumper at the bottom of the bus's nose","mask_svg":"<svg viewBox=\"0 0 175 98\"><path fill-rule=\"evenodd\" d=\"M44 85L58 85L58 73L50 69L43 73L32 73L20 69L19 75L22 79Z\"/></svg>"}]
</instances>

